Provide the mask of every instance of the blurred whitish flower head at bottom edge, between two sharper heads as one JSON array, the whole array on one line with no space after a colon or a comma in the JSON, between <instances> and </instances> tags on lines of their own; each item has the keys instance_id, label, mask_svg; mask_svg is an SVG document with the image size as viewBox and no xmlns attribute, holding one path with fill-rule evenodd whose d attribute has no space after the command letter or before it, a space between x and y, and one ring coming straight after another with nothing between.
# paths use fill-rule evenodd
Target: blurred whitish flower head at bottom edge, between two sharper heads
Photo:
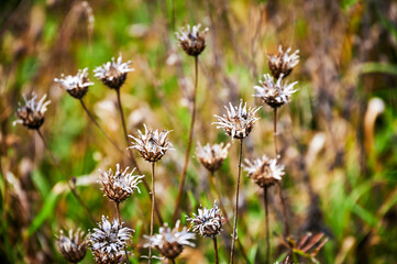
<instances>
[{"instance_id":1,"label":"blurred whitish flower head at bottom edge, between two sharper heads","mask_svg":"<svg viewBox=\"0 0 397 264\"><path fill-rule=\"evenodd\" d=\"M187 231L186 227L179 231L180 221L178 220L174 229L168 228L168 224L165 223L158 230L158 234L151 237L144 235L148 242L144 244L145 248L152 246L156 248L159 253L169 258L176 258L184 250L185 245L195 246L189 240L196 238L195 233Z\"/></svg>"}]
</instances>

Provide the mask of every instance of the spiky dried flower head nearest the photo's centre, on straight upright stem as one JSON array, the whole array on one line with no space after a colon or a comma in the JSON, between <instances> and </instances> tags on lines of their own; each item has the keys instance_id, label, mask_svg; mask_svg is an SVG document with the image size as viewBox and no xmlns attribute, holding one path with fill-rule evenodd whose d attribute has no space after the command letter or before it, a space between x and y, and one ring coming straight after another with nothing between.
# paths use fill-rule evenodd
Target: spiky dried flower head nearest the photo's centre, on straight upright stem
<instances>
[{"instance_id":1,"label":"spiky dried flower head nearest the photo's centre, on straight upright stem","mask_svg":"<svg viewBox=\"0 0 397 264\"><path fill-rule=\"evenodd\" d=\"M148 130L146 124L143 125L145 127L145 134L139 130L139 138L129 135L131 139L135 140L135 143L132 143L133 145L129 148L136 148L141 153L141 156L147 162L157 162L168 150L173 150L173 144L167 140L167 135L170 131L163 130L162 132L158 132L158 130Z\"/></svg>"}]
</instances>

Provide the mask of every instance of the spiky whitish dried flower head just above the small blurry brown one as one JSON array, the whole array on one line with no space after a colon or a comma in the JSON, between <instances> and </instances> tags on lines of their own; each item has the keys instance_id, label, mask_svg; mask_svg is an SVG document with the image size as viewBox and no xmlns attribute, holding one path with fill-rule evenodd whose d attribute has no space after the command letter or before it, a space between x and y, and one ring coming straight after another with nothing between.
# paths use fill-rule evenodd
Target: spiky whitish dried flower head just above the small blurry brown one
<instances>
[{"instance_id":1,"label":"spiky whitish dried flower head just above the small blurry brown one","mask_svg":"<svg viewBox=\"0 0 397 264\"><path fill-rule=\"evenodd\" d=\"M255 113L261 108L250 107L249 110L246 110L246 102L243 107L243 100L240 100L239 107L233 107L231 102L229 102L229 106L230 109L224 107L228 114L223 114L223 117L216 114L214 117L218 118L218 122L213 122L213 124L218 124L217 129L223 129L232 140L246 138L254 128L255 122L258 120L258 118L255 117Z\"/></svg>"}]
</instances>

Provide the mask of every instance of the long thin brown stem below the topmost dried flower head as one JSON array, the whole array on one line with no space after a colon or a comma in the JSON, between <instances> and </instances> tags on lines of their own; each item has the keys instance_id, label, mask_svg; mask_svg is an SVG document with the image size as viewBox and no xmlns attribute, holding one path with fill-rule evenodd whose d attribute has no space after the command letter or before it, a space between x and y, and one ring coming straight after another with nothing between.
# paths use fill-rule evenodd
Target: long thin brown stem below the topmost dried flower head
<instances>
[{"instance_id":1,"label":"long thin brown stem below the topmost dried flower head","mask_svg":"<svg viewBox=\"0 0 397 264\"><path fill-rule=\"evenodd\" d=\"M176 198L175 209L174 209L174 213L173 213L173 223L175 223L176 219L178 218L179 205L180 205L181 194L184 191L187 166L189 163L191 141L192 141L194 129L195 129L195 119L196 119L197 84L198 84L198 56L195 56L195 90L194 90L194 98L192 98L192 110L191 110L191 120L190 120L190 128L189 128L189 139L187 142L187 147L186 147L186 153L185 153L184 168L181 170L180 179L179 179L178 196Z\"/></svg>"}]
</instances>

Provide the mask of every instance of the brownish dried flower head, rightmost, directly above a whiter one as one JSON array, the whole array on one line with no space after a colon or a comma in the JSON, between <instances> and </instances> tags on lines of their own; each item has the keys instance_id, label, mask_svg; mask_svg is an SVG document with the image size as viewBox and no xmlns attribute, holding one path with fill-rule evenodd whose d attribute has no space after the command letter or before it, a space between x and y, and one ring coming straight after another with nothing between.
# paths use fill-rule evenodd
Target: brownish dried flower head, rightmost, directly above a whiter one
<instances>
[{"instance_id":1,"label":"brownish dried flower head, rightmost, directly above a whiter one","mask_svg":"<svg viewBox=\"0 0 397 264\"><path fill-rule=\"evenodd\" d=\"M299 63L299 50L289 55L290 52L290 47L288 47L286 52L283 52L283 46L279 45L277 55L267 56L268 68L276 79L280 78L282 75L284 78L287 77Z\"/></svg>"}]
</instances>

